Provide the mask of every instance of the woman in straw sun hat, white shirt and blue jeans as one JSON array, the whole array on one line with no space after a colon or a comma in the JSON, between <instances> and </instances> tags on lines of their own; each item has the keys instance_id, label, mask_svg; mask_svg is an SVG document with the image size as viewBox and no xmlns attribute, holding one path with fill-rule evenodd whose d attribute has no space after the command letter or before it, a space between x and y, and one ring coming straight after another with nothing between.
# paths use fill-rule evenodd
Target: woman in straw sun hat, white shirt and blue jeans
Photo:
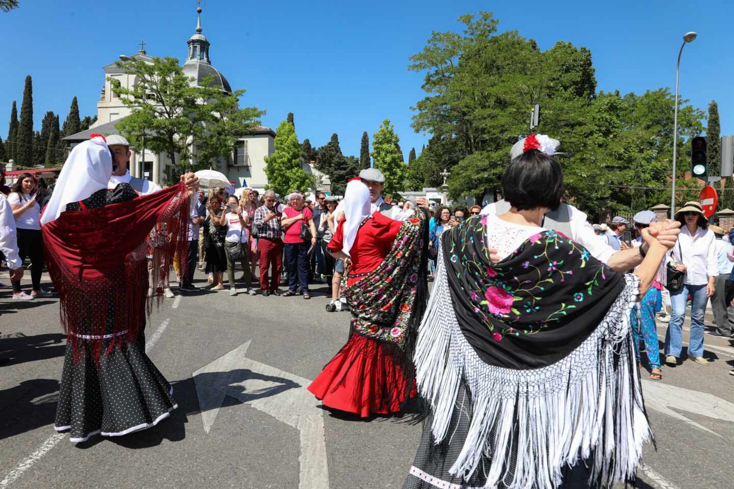
<instances>
[{"instance_id":1,"label":"woman in straw sun hat, white shirt and blue jeans","mask_svg":"<svg viewBox=\"0 0 734 489\"><path fill-rule=\"evenodd\" d=\"M703 315L706 303L716 290L719 263L716 260L716 238L708 229L708 218L698 202L686 202L675 213L680 222L678 243L670 251L676 270L686 273L683 287L670 291L673 315L665 333L665 363L677 364L683 349L683 320L686 302L691 295L691 334L688 356L700 365L708 365L703 358Z\"/></svg>"}]
</instances>

